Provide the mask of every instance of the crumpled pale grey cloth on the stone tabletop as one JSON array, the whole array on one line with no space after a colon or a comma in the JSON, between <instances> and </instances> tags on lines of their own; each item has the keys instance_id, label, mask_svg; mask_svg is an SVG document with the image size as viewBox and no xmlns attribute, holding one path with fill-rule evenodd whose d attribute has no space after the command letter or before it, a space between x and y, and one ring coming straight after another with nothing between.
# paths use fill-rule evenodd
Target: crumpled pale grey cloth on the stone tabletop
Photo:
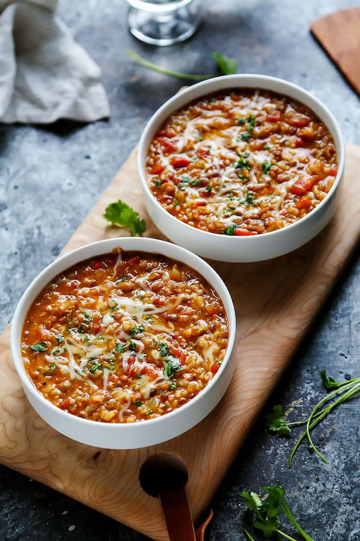
<instances>
[{"instance_id":1,"label":"crumpled pale grey cloth on the stone tabletop","mask_svg":"<svg viewBox=\"0 0 360 541\"><path fill-rule=\"evenodd\" d=\"M0 0L0 122L109 116L101 71L55 15L57 0Z\"/></svg>"}]
</instances>

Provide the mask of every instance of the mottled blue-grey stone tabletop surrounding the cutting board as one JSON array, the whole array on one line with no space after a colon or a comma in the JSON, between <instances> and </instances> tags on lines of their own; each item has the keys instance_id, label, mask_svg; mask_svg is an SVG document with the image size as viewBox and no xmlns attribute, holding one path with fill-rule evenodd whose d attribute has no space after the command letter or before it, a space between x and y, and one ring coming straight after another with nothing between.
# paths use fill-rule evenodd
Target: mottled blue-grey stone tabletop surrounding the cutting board
<instances>
[{"instance_id":1,"label":"mottled blue-grey stone tabletop surrounding the cutting board","mask_svg":"<svg viewBox=\"0 0 360 541\"><path fill-rule=\"evenodd\" d=\"M82 126L0 127L0 330L30 281L52 261L89 212L130 150L145 121L182 82L132 64L131 48L178 71L212 72L211 51L235 57L240 72L275 75L310 90L337 117L346 140L360 143L358 98L310 35L314 19L356 5L345 0L203 0L206 16L190 41L146 47L125 27L124 0L61 0L59 14L101 65L111 104L108 122ZM271 404L298 401L303 417L322 397L319 370L360 375L360 260L350 261L280 382ZM268 405L269 409L271 404ZM315 432L327 466L294 443L264 430L263 417L232 465L212 507L212 541L244 539L239 493L277 480L304 529L316 541L360 539L359 401L331 415ZM141 510L139 510L141 513ZM288 533L291 535L291 529ZM0 467L0 539L6 541L142 541L145 538Z\"/></svg>"}]
</instances>

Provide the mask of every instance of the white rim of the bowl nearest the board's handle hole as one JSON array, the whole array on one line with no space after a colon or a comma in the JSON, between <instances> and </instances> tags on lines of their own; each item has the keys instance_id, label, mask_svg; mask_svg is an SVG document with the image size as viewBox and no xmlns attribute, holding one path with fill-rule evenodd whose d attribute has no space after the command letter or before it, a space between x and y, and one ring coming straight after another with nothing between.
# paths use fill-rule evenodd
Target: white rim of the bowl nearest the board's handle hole
<instances>
[{"instance_id":1,"label":"white rim of the bowl nearest the board's handle hole","mask_svg":"<svg viewBox=\"0 0 360 541\"><path fill-rule=\"evenodd\" d=\"M121 243L125 243L125 247L121 246ZM134 246L132 246L132 243L134 243ZM149 243L149 249L144 248L137 248L136 245L139 243L142 245L143 243L148 244ZM126 245L129 245L126 246ZM104 246L104 251L97 252L96 248ZM178 257L173 257L170 255L165 255L165 257L169 259L174 259L179 262L183 262L182 255L186 254L190 257L191 260L194 261L194 263L197 263L199 267L203 267L208 271L211 275L211 280L214 281L214 283L211 283L212 287L214 287L216 293L218 294L219 298L223 302L225 313L228 318L228 326L229 326L229 339L228 339L228 347L226 348L226 353L224 360L216 373L215 377L213 377L208 384L196 395L196 397L189 400L186 404L183 406L180 406L176 408L176 410L172 410L169 413L166 413L164 415L161 415L159 417L156 417L154 419L144 419L143 421L140 421L139 423L101 423L101 421L95 421L91 419L83 419L82 417L78 417L78 415L73 415L72 413L66 412L61 410L61 408L55 406L52 404L49 400L47 400L44 395L38 391L32 382L28 372L26 372L24 367L24 362L22 358L21 353L21 337L22 337L22 330L24 325L24 320L26 317L26 314L29 311L30 306L34 302L35 298L30 302L28 308L26 309L26 304L29 302L29 296L34 292L34 289L36 286L39 285L44 280L44 277L49 274L54 267L56 267L56 272L50 273L51 276L49 278L46 278L46 281L43 283L40 291L46 285L55 278L59 273L66 271L66 269L72 267L73 265L77 265L77 263L81 261L85 261L86 259L90 259L92 257L96 257L98 255L102 254L108 254L111 252L112 249L115 247L120 246L124 251L136 251L139 252L145 252L149 254L161 254L165 255L162 252L162 247L164 247L164 250L166 250L171 247L171 249L174 249L175 252L178 254ZM106 249L108 247L108 249ZM86 252L89 248L91 248L91 251L94 251L96 255L86 255L84 257L81 257L81 255ZM154 249L152 249L154 248ZM69 259L73 258L74 255L77 254L79 257L76 258L75 262L66 264ZM61 269L58 269L58 266L60 264ZM184 265L188 265L188 263L183 263ZM191 265L188 265L190 268L194 269L196 272L201 274L203 278L208 281L208 279L205 278L202 271L198 271L196 268L192 267ZM209 282L210 283L210 282ZM218 289L223 289L222 293L219 293ZM37 293L39 294L39 293ZM228 305L228 307L226 307ZM212 391L212 388L216 385L217 381L220 379L222 373L225 370L226 365L228 365L229 360L231 358L232 350L234 348L235 344L235 337L236 337L236 315L235 315L235 308L234 308L234 302L232 301L230 292L228 288L226 287L224 281L222 280L221 276L202 258L200 258L198 255L193 254L190 252L190 250L187 250L186 248L183 248L181 246L176 245L175 243L154 239L152 237L112 237L111 239L103 239L96 242L91 242L89 244L83 245L81 247L75 248L74 250L71 250L70 252L60 256L59 258L52 261L48 266L46 266L43 271L41 271L34 280L31 281L30 285L25 289L25 292L23 293L21 299L18 302L18 305L16 307L14 318L11 323L11 336L10 336L10 343L11 343L11 354L12 354L12 360L14 362L16 371L19 375L19 378L22 382L22 385L26 387L26 390L29 391L37 401L40 401L45 407L50 408L50 411L52 411L54 414L58 415L59 417L63 418L64 421L71 420L73 423L78 423L83 425L84 427L88 427L89 429L91 427L96 427L97 430L101 431L140 431L141 427L145 426L154 426L159 423L164 422L164 419L169 419L170 416L172 418L175 418L177 415L184 414L189 408L195 407L196 404L205 398L207 394L209 394Z\"/></svg>"}]
</instances>

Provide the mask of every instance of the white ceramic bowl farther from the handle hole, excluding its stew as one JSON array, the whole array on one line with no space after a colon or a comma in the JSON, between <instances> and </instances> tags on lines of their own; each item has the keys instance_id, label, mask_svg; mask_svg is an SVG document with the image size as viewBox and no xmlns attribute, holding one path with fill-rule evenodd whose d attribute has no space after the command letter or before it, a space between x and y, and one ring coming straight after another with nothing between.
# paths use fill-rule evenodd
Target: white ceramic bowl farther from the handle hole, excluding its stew
<instances>
[{"instance_id":1,"label":"white ceramic bowl farther from the handle hole, excluding its stew","mask_svg":"<svg viewBox=\"0 0 360 541\"><path fill-rule=\"evenodd\" d=\"M272 90L304 103L329 128L334 137L338 171L334 184L325 199L301 220L283 229L254 236L227 236L209 233L177 220L161 206L152 195L146 180L145 160L149 144L168 116L192 100L207 94L230 88L259 88ZM141 179L146 209L151 220L173 242L188 248L205 258L219 261L251 262L263 261L286 254L314 238L330 221L336 209L336 195L343 176L345 161L344 141L338 123L329 109L315 96L296 84L266 75L226 75L194 84L170 98L146 124L141 136L137 155L138 172Z\"/></svg>"}]
</instances>

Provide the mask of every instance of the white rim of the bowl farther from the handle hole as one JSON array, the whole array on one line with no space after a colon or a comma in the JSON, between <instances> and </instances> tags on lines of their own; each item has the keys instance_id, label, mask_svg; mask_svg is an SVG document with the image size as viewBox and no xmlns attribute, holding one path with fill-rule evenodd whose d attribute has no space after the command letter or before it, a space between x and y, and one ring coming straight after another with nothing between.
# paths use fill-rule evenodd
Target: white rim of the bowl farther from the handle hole
<instances>
[{"instance_id":1,"label":"white rim of the bowl farther from the handle hole","mask_svg":"<svg viewBox=\"0 0 360 541\"><path fill-rule=\"evenodd\" d=\"M249 82L248 80L251 79L252 82L255 84L252 85L252 82ZM259 239L261 239L263 236L266 238L269 237L275 237L276 235L284 234L284 231L289 231L294 229L299 225L299 223L304 223L305 221L311 219L314 217L316 213L318 213L323 206L329 201L331 196L335 193L336 189L338 188L338 185L342 179L343 173L344 173L344 166L345 166L345 144L344 144L344 138L341 132L341 129L339 127L339 124L335 118L335 116L331 113L330 109L326 107L326 105L319 100L314 94L311 94L308 90L305 90L304 88L300 87L298 84L292 83L290 81L286 81L285 79L281 79L279 77L273 77L271 75L261 75L261 74L234 74L234 75L223 75L221 77L212 77L210 79L206 79L205 81L200 81L196 84L192 84L190 87L186 87L183 90L179 90L177 94L174 96L171 96L169 100L166 100L161 107L159 107L155 113L149 118L148 122L145 125L145 128L142 132L142 135L139 140L138 144L138 152L137 152L137 170L140 177L140 181L142 184L142 188L145 192L145 194L149 197L152 204L155 204L156 209L158 212L161 212L163 216L166 216L169 218L170 221L173 221L175 223L181 223L182 226L185 226L186 229L188 229L188 233L191 232L194 233L194 229L198 232L198 234L204 235L208 241L215 238L221 238L224 239L224 235L220 233L211 233L210 231L205 231L203 229L198 229L197 227L190 226L188 223L183 222L182 220L179 220L176 216L170 214L167 210L164 209L164 207L159 203L159 201L156 199L156 197L152 194L148 180L146 179L146 173L145 173L145 160L142 160L142 154L144 157L147 155L148 148L145 147L145 140L146 137L148 137L149 133L154 132L152 136L154 136L155 131L161 126L161 124L164 122L158 121L158 117L162 115L163 111L169 107L169 105L173 103L177 103L178 101L182 100L185 95L192 94L197 91L199 88L204 88L204 93L199 94L196 98L189 97L189 101L185 102L183 105L179 105L178 107L174 107L170 113L168 113L167 116L169 116L172 113L175 113L179 109L179 107L185 107L186 103L191 103L191 101L195 101L200 99L202 96L205 96L206 94L209 94L209 92L206 91L206 87L210 85L214 85L214 81L218 83L218 85L215 85L217 88L212 89L211 92L217 92L222 89L230 89L231 86L228 85L228 82L234 81L234 87L233 88L254 88L254 89L262 89L262 90L270 90L271 92L274 92L275 94L284 95L285 97L292 97L288 93L286 93L286 89L288 90L294 90L296 92L299 92L306 98L308 98L311 102L315 104L315 107L317 107L321 114L324 113L325 115L328 115L330 121L334 125L334 130L330 130L328 123L325 122L321 114L319 114L317 111L314 110L313 106L306 105L312 112L324 122L326 128L330 131L330 134L334 137L334 134L336 135L336 138L338 140L338 144L335 143L336 151L337 151L337 174L334 179L334 183L332 184L329 192L326 194L324 199L315 207L315 209L311 210L308 214L300 218L299 220L290 223L289 225L282 227L281 229L276 229L275 231L270 231L266 234L261 235L249 235L249 236L237 236L237 235L230 235L226 236L226 239L232 239L231 242L260 242ZM241 84L242 81L248 81L246 83ZM283 85L284 90L271 90L266 86L267 82L271 83L277 83ZM223 86L223 83L226 85ZM256 84L258 83L258 84ZM303 103L298 98L292 98L293 100L296 100L300 103ZM334 137L335 140L335 137Z\"/></svg>"}]
</instances>

